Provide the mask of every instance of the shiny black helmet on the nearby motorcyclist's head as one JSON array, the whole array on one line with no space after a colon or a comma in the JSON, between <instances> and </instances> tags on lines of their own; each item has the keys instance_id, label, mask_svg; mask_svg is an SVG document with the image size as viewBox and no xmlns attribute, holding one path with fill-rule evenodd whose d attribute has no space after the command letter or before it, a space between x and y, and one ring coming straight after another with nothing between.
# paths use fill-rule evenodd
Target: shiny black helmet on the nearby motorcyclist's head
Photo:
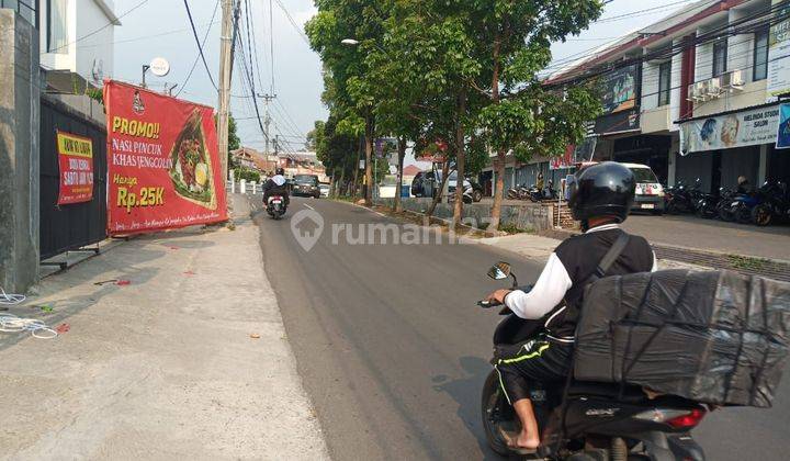
<instances>
[{"instance_id":1,"label":"shiny black helmet on the nearby motorcyclist's head","mask_svg":"<svg viewBox=\"0 0 790 461\"><path fill-rule=\"evenodd\" d=\"M582 170L571 184L568 206L574 220L614 217L622 223L633 205L636 179L617 161L605 161Z\"/></svg>"}]
</instances>

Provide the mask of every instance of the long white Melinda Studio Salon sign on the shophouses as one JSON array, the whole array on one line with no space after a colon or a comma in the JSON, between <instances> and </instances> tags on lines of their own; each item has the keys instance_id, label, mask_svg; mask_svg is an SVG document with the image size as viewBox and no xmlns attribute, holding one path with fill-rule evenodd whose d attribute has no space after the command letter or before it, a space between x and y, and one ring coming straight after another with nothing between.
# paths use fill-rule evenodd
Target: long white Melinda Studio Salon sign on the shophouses
<instances>
[{"instance_id":1,"label":"long white Melinda Studio Salon sign on the shophouses","mask_svg":"<svg viewBox=\"0 0 790 461\"><path fill-rule=\"evenodd\" d=\"M779 106L754 109L680 124L680 154L776 142Z\"/></svg>"}]
</instances>

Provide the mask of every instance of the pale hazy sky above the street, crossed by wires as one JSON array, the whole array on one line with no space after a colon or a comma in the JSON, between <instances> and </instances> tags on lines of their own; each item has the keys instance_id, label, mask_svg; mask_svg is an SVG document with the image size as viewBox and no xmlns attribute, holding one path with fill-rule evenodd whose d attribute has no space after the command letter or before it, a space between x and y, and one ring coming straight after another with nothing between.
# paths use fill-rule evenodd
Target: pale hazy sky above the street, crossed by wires
<instances>
[{"instance_id":1,"label":"pale hazy sky above the street, crossed by wires","mask_svg":"<svg viewBox=\"0 0 790 461\"><path fill-rule=\"evenodd\" d=\"M115 0L117 15L133 9L142 0ZM328 115L320 101L323 80L320 59L309 48L303 33L296 29L312 18L316 9L312 0L272 0L273 14L273 87L272 58L270 56L269 1L249 0L251 18L256 32L256 47L260 63L260 80L256 71L258 92L273 92L276 100L270 104L272 134L280 134L289 144L285 149L302 150L304 135L312 130L316 120ZM217 0L189 0L190 10L201 40L208 31L204 54L208 69L217 80L219 67L221 9L212 23L212 13ZM578 37L569 37L565 43L552 46L555 60L584 55L587 50L601 46L633 30L644 27L692 1L678 0L613 0L606 5L601 21L592 24ZM282 5L282 7L281 7ZM648 10L636 15L618 18L635 11ZM293 22L289 20L285 11ZM189 18L182 0L149 0L140 8L121 19L122 26L115 27L115 65L113 77L120 80L139 82L142 66L154 57L163 57L170 63L170 74L166 77L146 77L149 87L162 89L165 83L178 83L174 92L181 90L180 98L217 105L217 92L214 89L201 61L184 86L187 75L198 58L198 47L189 24ZM246 37L245 37L246 38ZM234 70L230 110L238 120L238 133L241 143L257 149L263 147L263 136L251 106L250 98L236 98L249 94L241 83L241 74ZM273 91L271 91L273 88ZM263 110L263 101L259 101Z\"/></svg>"}]
</instances>

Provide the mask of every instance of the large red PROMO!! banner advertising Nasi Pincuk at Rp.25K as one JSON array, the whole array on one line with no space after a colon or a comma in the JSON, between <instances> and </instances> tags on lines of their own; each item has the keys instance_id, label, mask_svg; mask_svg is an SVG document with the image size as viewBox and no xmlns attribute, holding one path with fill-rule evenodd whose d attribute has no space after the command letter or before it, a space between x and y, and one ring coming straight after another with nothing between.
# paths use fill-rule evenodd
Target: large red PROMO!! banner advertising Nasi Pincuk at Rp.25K
<instances>
[{"instance_id":1,"label":"large red PROMO!! banner advertising Nasi Pincuk at Rp.25K","mask_svg":"<svg viewBox=\"0 0 790 461\"><path fill-rule=\"evenodd\" d=\"M112 80L104 104L110 235L227 220L212 108Z\"/></svg>"}]
</instances>

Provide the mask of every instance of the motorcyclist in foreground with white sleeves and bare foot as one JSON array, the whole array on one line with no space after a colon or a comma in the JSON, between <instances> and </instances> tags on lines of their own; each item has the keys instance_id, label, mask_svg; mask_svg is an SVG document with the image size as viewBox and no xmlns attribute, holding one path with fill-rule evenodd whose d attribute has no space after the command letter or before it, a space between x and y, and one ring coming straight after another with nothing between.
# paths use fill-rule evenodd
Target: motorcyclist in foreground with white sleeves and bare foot
<instances>
[{"instance_id":1,"label":"motorcyclist in foreground with white sleeves and bare foot","mask_svg":"<svg viewBox=\"0 0 790 461\"><path fill-rule=\"evenodd\" d=\"M568 206L574 218L582 222L584 234L556 247L530 292L497 290L488 296L521 318L546 318L533 339L497 351L496 369L503 391L521 421L518 435L505 432L503 436L517 452L531 452L540 446L540 431L529 398L530 383L560 385L571 371L576 318L585 286L594 280L603 256L624 234L619 224L628 217L635 183L631 170L613 161L580 171L571 184ZM646 272L655 267L655 255L647 241L629 236L607 276Z\"/></svg>"}]
</instances>

